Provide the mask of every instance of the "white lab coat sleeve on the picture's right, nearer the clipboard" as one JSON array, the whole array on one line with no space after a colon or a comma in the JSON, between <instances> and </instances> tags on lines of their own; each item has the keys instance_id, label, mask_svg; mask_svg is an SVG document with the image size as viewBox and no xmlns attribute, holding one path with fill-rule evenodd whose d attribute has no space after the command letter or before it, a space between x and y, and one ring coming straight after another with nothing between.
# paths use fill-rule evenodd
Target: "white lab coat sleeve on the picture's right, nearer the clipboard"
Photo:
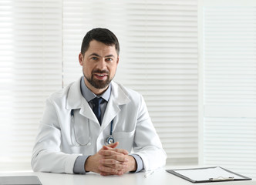
<instances>
[{"instance_id":1,"label":"white lab coat sleeve on the picture's right, nearer the clipboard","mask_svg":"<svg viewBox=\"0 0 256 185\"><path fill-rule=\"evenodd\" d=\"M165 166L167 154L163 150L142 96L140 96L133 151L143 160L143 167L146 171Z\"/></svg>"}]
</instances>

